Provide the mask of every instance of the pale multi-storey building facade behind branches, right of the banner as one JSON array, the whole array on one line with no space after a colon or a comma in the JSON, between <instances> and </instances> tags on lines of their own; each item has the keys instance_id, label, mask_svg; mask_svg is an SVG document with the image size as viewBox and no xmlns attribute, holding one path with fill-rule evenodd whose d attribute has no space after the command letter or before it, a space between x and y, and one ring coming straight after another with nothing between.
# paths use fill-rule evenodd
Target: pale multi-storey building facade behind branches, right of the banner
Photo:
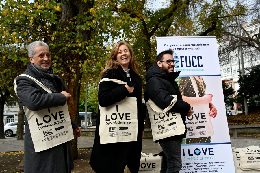
<instances>
[{"instance_id":1,"label":"pale multi-storey building facade behind branches, right of the banner","mask_svg":"<svg viewBox=\"0 0 260 173\"><path fill-rule=\"evenodd\" d=\"M259 33L259 23L243 23L241 24L241 36L242 38L257 36ZM244 31L246 30L247 33ZM234 28L232 34L239 35L238 27ZM242 45L242 46L241 46ZM220 74L221 80L225 81L230 88L233 88L236 92L239 89L239 74L242 71L242 56L244 69L260 64L260 51L252 46L249 46L243 42L239 42L237 38L230 35L224 35L224 39L218 42L218 51L220 53ZM234 104L231 110L240 110L241 106Z\"/></svg>"}]
</instances>

